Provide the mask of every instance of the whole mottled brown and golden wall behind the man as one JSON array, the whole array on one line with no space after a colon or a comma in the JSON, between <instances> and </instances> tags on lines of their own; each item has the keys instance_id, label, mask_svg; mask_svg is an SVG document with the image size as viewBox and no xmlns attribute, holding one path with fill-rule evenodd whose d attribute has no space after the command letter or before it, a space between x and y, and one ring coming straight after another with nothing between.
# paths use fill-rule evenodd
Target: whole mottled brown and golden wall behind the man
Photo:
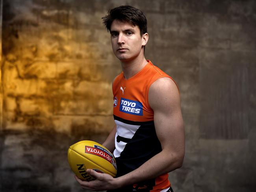
<instances>
[{"instance_id":1,"label":"whole mottled brown and golden wall behind the man","mask_svg":"<svg viewBox=\"0 0 256 192\"><path fill-rule=\"evenodd\" d=\"M3 0L0 191L80 191L67 148L113 127L121 67L101 17L123 4L145 13L146 58L180 87L186 156L169 174L174 191L255 191L254 0Z\"/></svg>"}]
</instances>

